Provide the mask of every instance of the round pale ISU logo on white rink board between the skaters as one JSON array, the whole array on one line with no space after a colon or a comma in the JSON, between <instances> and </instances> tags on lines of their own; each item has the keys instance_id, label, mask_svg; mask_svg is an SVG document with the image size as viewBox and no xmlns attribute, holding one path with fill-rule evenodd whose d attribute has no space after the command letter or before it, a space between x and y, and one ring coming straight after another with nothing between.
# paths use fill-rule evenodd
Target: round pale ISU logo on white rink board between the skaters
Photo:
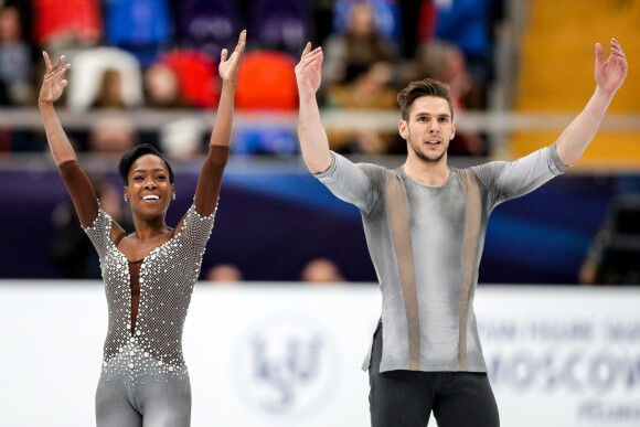
<instances>
[{"instance_id":1,"label":"round pale ISU logo on white rink board between the skaters","mask_svg":"<svg viewBox=\"0 0 640 427\"><path fill-rule=\"evenodd\" d=\"M280 419L309 416L338 388L339 360L329 337L303 314L265 319L232 361L243 399Z\"/></svg>"}]
</instances>

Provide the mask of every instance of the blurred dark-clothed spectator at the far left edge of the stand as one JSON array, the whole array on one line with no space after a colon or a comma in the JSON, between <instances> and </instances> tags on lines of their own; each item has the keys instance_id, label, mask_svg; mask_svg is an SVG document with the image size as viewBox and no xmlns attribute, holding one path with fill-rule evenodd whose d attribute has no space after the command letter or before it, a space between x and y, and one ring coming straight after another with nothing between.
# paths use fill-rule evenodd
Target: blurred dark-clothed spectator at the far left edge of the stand
<instances>
[{"instance_id":1,"label":"blurred dark-clothed spectator at the far left edge of the stand","mask_svg":"<svg viewBox=\"0 0 640 427\"><path fill-rule=\"evenodd\" d=\"M31 53L22 39L22 20L15 7L0 9L0 105L25 105L32 88Z\"/></svg>"}]
</instances>

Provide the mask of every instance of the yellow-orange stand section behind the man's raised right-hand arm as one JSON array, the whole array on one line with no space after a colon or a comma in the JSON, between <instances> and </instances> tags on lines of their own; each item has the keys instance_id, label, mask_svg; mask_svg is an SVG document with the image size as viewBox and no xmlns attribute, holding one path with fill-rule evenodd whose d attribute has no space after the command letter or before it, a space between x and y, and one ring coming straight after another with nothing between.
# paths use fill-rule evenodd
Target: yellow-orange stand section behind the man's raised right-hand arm
<instances>
[{"instance_id":1,"label":"yellow-orange stand section behind the man's raised right-hand arm","mask_svg":"<svg viewBox=\"0 0 640 427\"><path fill-rule=\"evenodd\" d=\"M640 4L586 0L577 3L536 0L531 2L530 22L522 39L516 109L531 113L577 114L591 96L594 44L609 55L615 36L627 57L640 56ZM634 88L638 70L630 66L625 86L616 95L611 115L640 110ZM515 157L527 154L555 140L558 131L518 134L511 143ZM638 132L601 129L578 167L628 167L640 164Z\"/></svg>"}]
</instances>

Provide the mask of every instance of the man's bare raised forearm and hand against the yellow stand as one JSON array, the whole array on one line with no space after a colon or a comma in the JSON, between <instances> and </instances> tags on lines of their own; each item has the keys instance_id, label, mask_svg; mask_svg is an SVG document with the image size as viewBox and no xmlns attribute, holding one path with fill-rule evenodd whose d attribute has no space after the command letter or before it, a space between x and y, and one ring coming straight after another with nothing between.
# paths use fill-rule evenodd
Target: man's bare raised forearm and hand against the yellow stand
<instances>
[{"instance_id":1,"label":"man's bare raised forearm and hand against the yellow stand","mask_svg":"<svg viewBox=\"0 0 640 427\"><path fill-rule=\"evenodd\" d=\"M596 92L585 109L565 128L556 140L561 161L572 167L589 146L614 95L627 76L627 60L620 43L611 39L611 53L602 61L602 46L596 43Z\"/></svg>"}]
</instances>

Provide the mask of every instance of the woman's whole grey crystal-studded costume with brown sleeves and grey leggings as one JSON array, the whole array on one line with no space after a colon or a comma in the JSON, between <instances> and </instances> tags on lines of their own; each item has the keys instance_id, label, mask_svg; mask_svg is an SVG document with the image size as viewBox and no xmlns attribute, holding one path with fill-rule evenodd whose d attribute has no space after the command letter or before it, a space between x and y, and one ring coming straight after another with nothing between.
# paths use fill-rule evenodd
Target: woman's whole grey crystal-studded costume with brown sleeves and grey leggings
<instances>
[{"instance_id":1,"label":"woman's whole grey crystal-studded costume with brown sleeves and grey leggings","mask_svg":"<svg viewBox=\"0 0 640 427\"><path fill-rule=\"evenodd\" d=\"M77 161L58 166L83 228L98 252L105 280L109 324L96 392L98 427L190 425L191 384L182 356L182 328L213 228L227 158L228 147L210 147L182 227L139 260L128 260L118 249L126 233L99 207Z\"/></svg>"}]
</instances>

